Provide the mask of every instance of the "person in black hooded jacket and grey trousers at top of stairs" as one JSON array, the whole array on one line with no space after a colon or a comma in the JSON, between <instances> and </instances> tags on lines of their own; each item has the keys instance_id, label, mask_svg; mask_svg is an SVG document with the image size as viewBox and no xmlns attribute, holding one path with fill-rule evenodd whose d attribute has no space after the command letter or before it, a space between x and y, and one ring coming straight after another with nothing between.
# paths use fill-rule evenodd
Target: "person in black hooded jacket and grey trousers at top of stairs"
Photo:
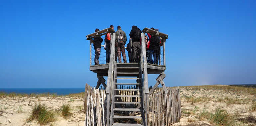
<instances>
[{"instance_id":1,"label":"person in black hooded jacket and grey trousers at top of stairs","mask_svg":"<svg viewBox=\"0 0 256 126\"><path fill-rule=\"evenodd\" d=\"M141 58L141 33L141 30L137 26L132 26L132 30L129 35L132 38L133 62L138 62ZM139 59L137 54L139 55Z\"/></svg>"}]
</instances>

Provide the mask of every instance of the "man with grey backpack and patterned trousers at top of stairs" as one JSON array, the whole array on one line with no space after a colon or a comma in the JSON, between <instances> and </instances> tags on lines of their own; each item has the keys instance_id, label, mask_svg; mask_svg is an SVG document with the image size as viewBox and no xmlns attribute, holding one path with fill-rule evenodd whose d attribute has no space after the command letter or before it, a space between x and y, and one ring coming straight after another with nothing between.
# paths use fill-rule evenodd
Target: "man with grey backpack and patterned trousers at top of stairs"
<instances>
[{"instance_id":1,"label":"man with grey backpack and patterned trousers at top of stairs","mask_svg":"<svg viewBox=\"0 0 256 126\"><path fill-rule=\"evenodd\" d=\"M117 57L118 57L118 62L121 63L121 52L123 55L123 60L124 63L126 63L126 55L125 55L125 43L127 41L126 33L121 29L120 26L117 26L117 31L116 31L116 47L117 47Z\"/></svg>"}]
</instances>

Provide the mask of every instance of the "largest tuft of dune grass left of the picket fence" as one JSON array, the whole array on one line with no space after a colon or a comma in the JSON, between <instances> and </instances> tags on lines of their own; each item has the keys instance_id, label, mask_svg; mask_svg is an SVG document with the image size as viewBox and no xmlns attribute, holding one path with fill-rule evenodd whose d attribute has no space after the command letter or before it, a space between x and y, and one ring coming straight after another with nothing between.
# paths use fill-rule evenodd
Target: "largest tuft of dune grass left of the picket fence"
<instances>
[{"instance_id":1,"label":"largest tuft of dune grass left of the picket fence","mask_svg":"<svg viewBox=\"0 0 256 126\"><path fill-rule=\"evenodd\" d=\"M43 104L38 103L32 107L32 111L27 122L37 120L40 125L45 125L46 123L55 121L55 117L55 113L52 110L49 110Z\"/></svg>"}]
</instances>

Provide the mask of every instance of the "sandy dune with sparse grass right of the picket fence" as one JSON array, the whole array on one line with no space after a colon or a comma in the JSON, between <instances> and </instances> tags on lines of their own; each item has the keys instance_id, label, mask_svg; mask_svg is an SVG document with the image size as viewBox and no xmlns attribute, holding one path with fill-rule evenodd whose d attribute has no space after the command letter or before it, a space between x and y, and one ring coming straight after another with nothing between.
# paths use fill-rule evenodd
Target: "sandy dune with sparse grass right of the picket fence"
<instances>
[{"instance_id":1,"label":"sandy dune with sparse grass right of the picket fence","mask_svg":"<svg viewBox=\"0 0 256 126\"><path fill-rule=\"evenodd\" d=\"M182 118L175 126L256 126L256 88L180 87Z\"/></svg>"}]
</instances>

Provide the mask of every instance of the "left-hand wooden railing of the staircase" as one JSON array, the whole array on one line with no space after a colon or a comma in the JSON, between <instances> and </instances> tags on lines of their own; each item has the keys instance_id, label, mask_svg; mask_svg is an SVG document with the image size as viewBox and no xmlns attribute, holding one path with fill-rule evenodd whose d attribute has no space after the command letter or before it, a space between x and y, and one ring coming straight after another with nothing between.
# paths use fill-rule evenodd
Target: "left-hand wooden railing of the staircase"
<instances>
[{"instance_id":1,"label":"left-hand wooden railing of the staircase","mask_svg":"<svg viewBox=\"0 0 256 126\"><path fill-rule=\"evenodd\" d=\"M109 116L109 108L110 108L110 101L112 101L112 89L114 88L114 70L115 70L115 33L111 33L111 48L110 48L110 61L109 61L109 67L108 67L108 79L107 79L107 88L106 88L106 99L107 99L107 106L106 106L106 124L107 126L110 126L110 116ZM111 115L112 118L112 115Z\"/></svg>"}]
</instances>

